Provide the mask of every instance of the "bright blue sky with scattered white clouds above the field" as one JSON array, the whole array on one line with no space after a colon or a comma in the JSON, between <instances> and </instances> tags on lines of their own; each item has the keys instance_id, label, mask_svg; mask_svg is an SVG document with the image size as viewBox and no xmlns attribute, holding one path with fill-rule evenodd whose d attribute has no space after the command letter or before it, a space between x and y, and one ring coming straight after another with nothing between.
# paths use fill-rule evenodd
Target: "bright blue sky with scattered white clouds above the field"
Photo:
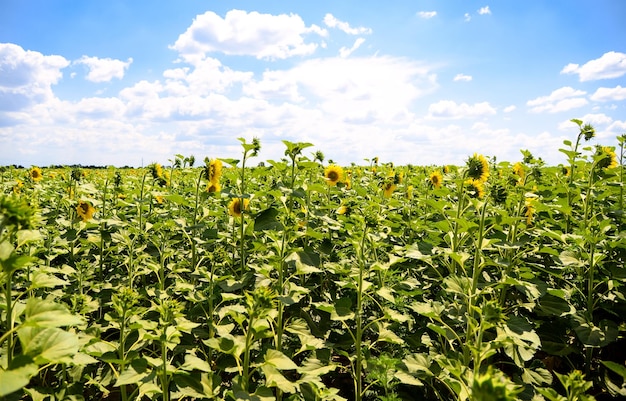
<instances>
[{"instance_id":1,"label":"bright blue sky with scattered white clouds above the field","mask_svg":"<svg viewBox=\"0 0 626 401\"><path fill-rule=\"evenodd\" d=\"M0 165L549 164L626 132L626 2L0 0Z\"/></svg>"}]
</instances>

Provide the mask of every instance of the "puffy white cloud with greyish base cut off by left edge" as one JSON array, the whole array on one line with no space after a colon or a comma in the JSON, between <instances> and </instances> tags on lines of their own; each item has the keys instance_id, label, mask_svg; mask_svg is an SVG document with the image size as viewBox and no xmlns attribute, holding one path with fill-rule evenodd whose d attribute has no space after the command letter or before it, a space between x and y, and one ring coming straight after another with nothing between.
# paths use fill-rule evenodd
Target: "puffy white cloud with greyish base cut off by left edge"
<instances>
[{"instance_id":1,"label":"puffy white cloud with greyish base cut off by left edge","mask_svg":"<svg viewBox=\"0 0 626 401\"><path fill-rule=\"evenodd\" d=\"M11 43L0 43L0 112L19 111L54 97L52 85L70 64Z\"/></svg>"}]
</instances>

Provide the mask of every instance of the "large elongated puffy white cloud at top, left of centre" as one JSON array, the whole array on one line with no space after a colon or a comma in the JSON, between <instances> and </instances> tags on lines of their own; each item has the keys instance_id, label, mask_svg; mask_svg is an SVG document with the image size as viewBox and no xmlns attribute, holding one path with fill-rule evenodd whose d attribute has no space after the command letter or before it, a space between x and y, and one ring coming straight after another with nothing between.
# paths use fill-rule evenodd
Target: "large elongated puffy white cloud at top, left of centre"
<instances>
[{"instance_id":1,"label":"large elongated puffy white cloud at top, left of centre","mask_svg":"<svg viewBox=\"0 0 626 401\"><path fill-rule=\"evenodd\" d=\"M250 55L266 60L286 59L315 52L319 44L304 41L310 33L327 34L317 25L307 27L295 14L271 15L230 10L222 18L207 11L196 16L170 48L192 64L211 52Z\"/></svg>"}]
</instances>

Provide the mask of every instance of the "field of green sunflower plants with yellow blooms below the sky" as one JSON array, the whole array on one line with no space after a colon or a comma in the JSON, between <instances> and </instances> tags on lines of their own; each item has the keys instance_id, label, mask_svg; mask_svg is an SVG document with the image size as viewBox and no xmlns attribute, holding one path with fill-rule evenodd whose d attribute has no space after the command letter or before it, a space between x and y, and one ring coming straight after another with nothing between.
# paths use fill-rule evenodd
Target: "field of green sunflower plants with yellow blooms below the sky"
<instances>
[{"instance_id":1,"label":"field of green sunflower plants with yellow blooms below the sky","mask_svg":"<svg viewBox=\"0 0 626 401\"><path fill-rule=\"evenodd\" d=\"M623 399L626 135L572 121L559 166L3 167L0 399Z\"/></svg>"}]
</instances>

